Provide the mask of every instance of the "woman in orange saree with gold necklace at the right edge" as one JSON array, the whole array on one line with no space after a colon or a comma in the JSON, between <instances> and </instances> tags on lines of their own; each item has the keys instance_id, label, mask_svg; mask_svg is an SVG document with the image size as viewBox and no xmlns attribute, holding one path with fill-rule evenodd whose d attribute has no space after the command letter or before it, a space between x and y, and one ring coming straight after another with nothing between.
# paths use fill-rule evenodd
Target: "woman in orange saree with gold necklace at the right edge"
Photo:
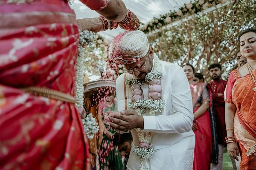
<instances>
[{"instance_id":1,"label":"woman in orange saree with gold necklace at the right edge","mask_svg":"<svg viewBox=\"0 0 256 170\"><path fill-rule=\"evenodd\" d=\"M240 51L247 64L230 74L227 82L225 119L227 151L237 159L241 170L256 169L256 29L239 36Z\"/></svg>"}]
</instances>

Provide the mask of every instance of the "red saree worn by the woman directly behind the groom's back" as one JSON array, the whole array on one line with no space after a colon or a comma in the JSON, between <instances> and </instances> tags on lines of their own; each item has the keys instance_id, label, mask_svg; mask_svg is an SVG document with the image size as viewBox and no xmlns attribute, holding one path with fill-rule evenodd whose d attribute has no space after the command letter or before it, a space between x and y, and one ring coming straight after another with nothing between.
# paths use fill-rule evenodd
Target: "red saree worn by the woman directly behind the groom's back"
<instances>
[{"instance_id":1,"label":"red saree worn by the woman directly behind the groom's back","mask_svg":"<svg viewBox=\"0 0 256 170\"><path fill-rule=\"evenodd\" d=\"M205 83L190 85L193 101L193 113L201 106L199 103L209 100ZM199 116L195 122L197 130L195 133L195 151L193 170L209 170L212 154L211 122L208 110Z\"/></svg>"}]
</instances>

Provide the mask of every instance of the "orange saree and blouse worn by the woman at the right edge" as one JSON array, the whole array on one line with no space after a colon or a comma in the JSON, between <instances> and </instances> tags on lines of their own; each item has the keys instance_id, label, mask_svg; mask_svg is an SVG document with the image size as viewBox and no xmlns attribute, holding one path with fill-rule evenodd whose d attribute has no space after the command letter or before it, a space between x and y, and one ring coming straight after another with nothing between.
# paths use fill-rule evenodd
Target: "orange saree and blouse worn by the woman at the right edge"
<instances>
[{"instance_id":1,"label":"orange saree and blouse worn by the woman at the right edge","mask_svg":"<svg viewBox=\"0 0 256 170\"><path fill-rule=\"evenodd\" d=\"M253 71L256 77L256 70ZM241 170L256 169L256 92L250 74L239 77L235 70L227 82L227 103L236 105L234 134L239 142Z\"/></svg>"}]
</instances>

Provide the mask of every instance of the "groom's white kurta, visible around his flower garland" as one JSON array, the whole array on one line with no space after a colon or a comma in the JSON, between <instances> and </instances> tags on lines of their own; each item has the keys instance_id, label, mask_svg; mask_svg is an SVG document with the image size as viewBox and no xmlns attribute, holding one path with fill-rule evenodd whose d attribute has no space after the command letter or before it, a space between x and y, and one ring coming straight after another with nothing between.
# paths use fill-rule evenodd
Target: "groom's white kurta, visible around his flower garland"
<instances>
[{"instance_id":1,"label":"groom's white kurta, visible around his flower garland","mask_svg":"<svg viewBox=\"0 0 256 170\"><path fill-rule=\"evenodd\" d=\"M151 170L192 170L195 134L192 131L193 109L189 82L183 69L170 62L160 61L162 100L165 107L156 116L144 113L144 132L154 132L151 143L157 153L149 158ZM118 111L127 109L131 100L131 88L124 79L131 74L122 74L116 80ZM148 99L148 84L141 86L144 99ZM132 130L133 144L138 145L136 130ZM138 170L140 157L130 153L127 167Z\"/></svg>"}]
</instances>

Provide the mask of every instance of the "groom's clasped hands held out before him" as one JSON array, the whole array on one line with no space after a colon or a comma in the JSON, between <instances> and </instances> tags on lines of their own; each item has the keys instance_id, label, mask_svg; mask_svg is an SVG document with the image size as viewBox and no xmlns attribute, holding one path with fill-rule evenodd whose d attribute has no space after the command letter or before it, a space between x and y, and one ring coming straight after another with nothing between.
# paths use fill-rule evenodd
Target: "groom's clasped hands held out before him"
<instances>
[{"instance_id":1,"label":"groom's clasped hands held out before him","mask_svg":"<svg viewBox=\"0 0 256 170\"><path fill-rule=\"evenodd\" d=\"M134 128L143 129L144 126L143 116L138 115L134 110L107 111L104 115L104 121L113 129L120 131Z\"/></svg>"}]
</instances>

